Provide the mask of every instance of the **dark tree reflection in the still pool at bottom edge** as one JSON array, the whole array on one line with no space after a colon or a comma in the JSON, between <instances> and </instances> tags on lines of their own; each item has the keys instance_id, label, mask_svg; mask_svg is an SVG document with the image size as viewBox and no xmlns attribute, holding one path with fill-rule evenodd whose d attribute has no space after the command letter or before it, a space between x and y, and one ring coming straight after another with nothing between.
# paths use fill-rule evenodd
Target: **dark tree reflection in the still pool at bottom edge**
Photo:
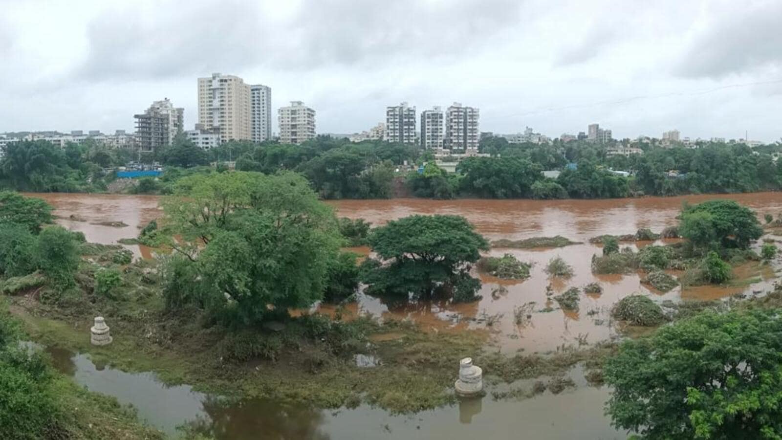
<instances>
[{"instance_id":1,"label":"dark tree reflection in the still pool at bottom edge","mask_svg":"<svg viewBox=\"0 0 782 440\"><path fill-rule=\"evenodd\" d=\"M329 439L319 429L323 413L307 406L285 405L267 399L236 402L209 397L203 401L203 410L208 417L189 422L185 431L217 440Z\"/></svg>"}]
</instances>

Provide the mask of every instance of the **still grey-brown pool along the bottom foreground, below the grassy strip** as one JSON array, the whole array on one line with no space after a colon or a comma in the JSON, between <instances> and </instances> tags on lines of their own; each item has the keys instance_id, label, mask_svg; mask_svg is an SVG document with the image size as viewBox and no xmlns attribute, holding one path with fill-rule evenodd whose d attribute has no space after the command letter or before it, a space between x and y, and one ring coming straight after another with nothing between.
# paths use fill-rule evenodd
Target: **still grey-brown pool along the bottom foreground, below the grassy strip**
<instances>
[{"instance_id":1,"label":"still grey-brown pool along the bottom foreground, below the grassy strip","mask_svg":"<svg viewBox=\"0 0 782 440\"><path fill-rule=\"evenodd\" d=\"M188 426L217 440L466 440L486 433L491 433L491 438L626 438L603 416L608 389L587 386L579 368L569 373L576 388L559 395L545 391L522 400L486 396L411 416L395 416L366 405L314 409L267 399L231 402L193 391L187 385L167 386L152 373L125 373L96 366L88 355L57 348L48 348L47 352L59 371L90 391L113 395L121 404L135 406L141 420L171 437L181 435L178 427Z\"/></svg>"}]
</instances>

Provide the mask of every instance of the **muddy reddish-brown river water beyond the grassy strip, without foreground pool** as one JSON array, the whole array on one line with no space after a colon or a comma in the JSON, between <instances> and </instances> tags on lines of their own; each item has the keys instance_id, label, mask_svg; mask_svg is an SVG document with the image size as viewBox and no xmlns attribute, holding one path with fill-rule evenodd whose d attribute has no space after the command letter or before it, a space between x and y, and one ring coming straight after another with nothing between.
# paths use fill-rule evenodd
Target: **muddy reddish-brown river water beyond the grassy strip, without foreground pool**
<instances>
[{"instance_id":1,"label":"muddy reddish-brown river water beyond the grassy strip, without foreground pool","mask_svg":"<svg viewBox=\"0 0 782 440\"><path fill-rule=\"evenodd\" d=\"M58 222L81 231L89 241L115 243L131 238L138 228L161 215L158 197L106 194L30 194L41 197L56 207ZM731 195L701 195L685 197L647 197L613 200L338 200L328 202L339 216L365 218L373 225L414 214L463 215L488 240L505 238L521 240L539 236L561 235L582 242L554 249L492 249L489 254L514 254L521 261L533 263L531 276L522 282L498 280L479 275L483 286L482 299L472 303L450 304L448 301L418 301L406 304L386 304L378 298L359 295L348 305L343 316L371 313L382 319L412 319L427 330L459 331L482 329L493 336L493 343L504 352L550 352L562 344L594 344L617 334L610 319L610 308L626 295L639 293L655 299L718 299L742 291L766 290L771 287L773 269L761 268L752 262L734 269L737 279L760 276L762 281L741 287L680 287L662 294L640 283L640 274L594 275L591 272L593 254L601 248L588 243L590 237L601 234L621 235L649 228L655 232L676 225L683 202L697 204L704 200L730 198L745 204L760 216L777 215L782 211L782 193L750 193ZM77 220L70 219L74 215ZM98 222L121 221L127 227L95 225ZM647 243L622 243L637 248ZM149 258L149 248L128 246L137 256ZM368 248L356 248L368 254ZM543 269L551 258L559 256L574 269L568 279L551 279ZM477 275L477 274L476 274ZM564 311L546 294L560 294L570 287L584 287L597 282L602 294L580 294L578 311ZM505 290L499 290L503 286ZM534 305L529 305L533 303ZM527 305L533 312L522 325L517 325L514 309ZM554 308L551 312L541 312ZM332 306L317 307L321 312L335 312Z\"/></svg>"}]
</instances>

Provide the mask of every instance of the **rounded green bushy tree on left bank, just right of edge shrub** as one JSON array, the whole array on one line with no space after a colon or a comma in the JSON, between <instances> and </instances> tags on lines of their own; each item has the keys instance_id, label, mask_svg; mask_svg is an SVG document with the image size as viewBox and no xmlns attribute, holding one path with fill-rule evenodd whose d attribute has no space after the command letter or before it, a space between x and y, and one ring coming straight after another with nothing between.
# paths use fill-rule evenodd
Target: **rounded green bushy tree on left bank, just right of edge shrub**
<instances>
[{"instance_id":1,"label":"rounded green bushy tree on left bank, just right of edge shrub","mask_svg":"<svg viewBox=\"0 0 782 440\"><path fill-rule=\"evenodd\" d=\"M35 251L38 267L49 282L60 290L76 285L80 257L73 233L62 226L49 226L38 234Z\"/></svg>"}]
</instances>

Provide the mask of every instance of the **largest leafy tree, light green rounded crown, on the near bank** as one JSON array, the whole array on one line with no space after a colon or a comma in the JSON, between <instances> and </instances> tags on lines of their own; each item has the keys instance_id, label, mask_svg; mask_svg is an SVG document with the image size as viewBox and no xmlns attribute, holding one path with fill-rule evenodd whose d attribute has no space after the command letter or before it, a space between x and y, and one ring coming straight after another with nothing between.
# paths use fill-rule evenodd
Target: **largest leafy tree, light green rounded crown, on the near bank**
<instances>
[{"instance_id":1,"label":"largest leafy tree, light green rounded crown, on the near bank","mask_svg":"<svg viewBox=\"0 0 782 440\"><path fill-rule=\"evenodd\" d=\"M342 239L332 208L302 176L193 175L178 182L163 208L166 231L193 244L169 241L194 265L171 271L178 289L170 294L199 290L202 305L242 325L322 298ZM181 279L192 274L199 280Z\"/></svg>"}]
</instances>

